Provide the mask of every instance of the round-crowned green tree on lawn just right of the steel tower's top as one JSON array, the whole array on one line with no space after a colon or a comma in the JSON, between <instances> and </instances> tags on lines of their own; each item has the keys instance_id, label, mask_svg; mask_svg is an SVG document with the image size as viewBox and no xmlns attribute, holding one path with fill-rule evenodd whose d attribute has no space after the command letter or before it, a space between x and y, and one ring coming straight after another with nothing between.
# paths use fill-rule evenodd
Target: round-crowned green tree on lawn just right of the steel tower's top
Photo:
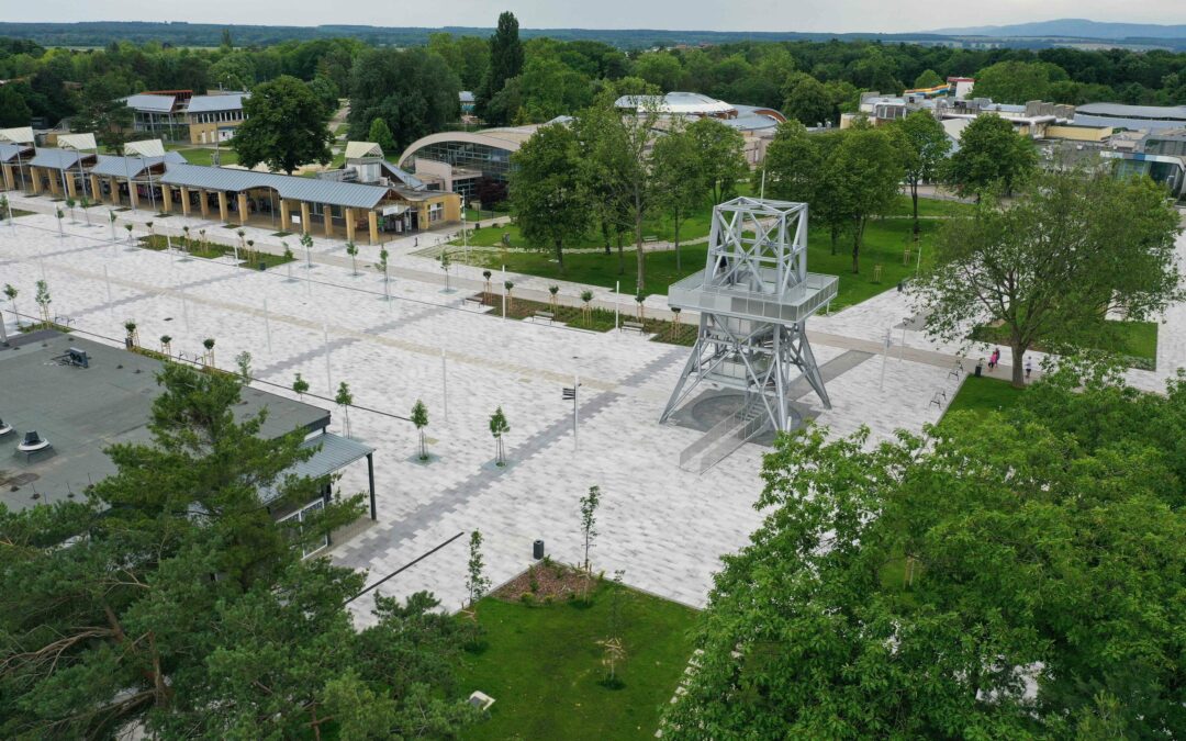
<instances>
[{"instance_id":1,"label":"round-crowned green tree on lawn just right of the steel tower's top","mask_svg":"<svg viewBox=\"0 0 1186 741\"><path fill-rule=\"evenodd\" d=\"M903 179L901 155L884 129L856 127L843 134L825 167L837 184L836 207L850 223L853 273L859 273L865 225L897 197Z\"/></svg>"}]
</instances>

